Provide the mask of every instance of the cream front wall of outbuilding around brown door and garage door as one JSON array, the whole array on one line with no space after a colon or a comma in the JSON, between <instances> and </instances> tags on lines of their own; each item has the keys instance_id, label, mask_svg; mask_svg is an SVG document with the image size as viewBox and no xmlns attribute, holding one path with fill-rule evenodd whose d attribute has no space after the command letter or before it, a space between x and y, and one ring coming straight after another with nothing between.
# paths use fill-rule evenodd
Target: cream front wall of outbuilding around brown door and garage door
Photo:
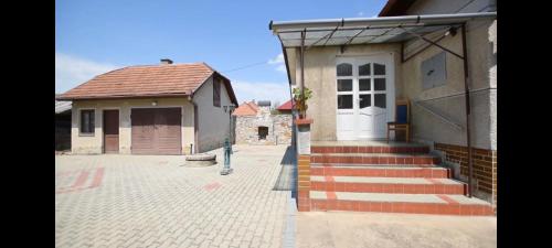
<instances>
[{"instance_id":1,"label":"cream front wall of outbuilding around brown door and garage door","mask_svg":"<svg viewBox=\"0 0 552 248\"><path fill-rule=\"evenodd\" d=\"M103 110L119 110L119 153L129 154L131 145L130 110L136 107L153 107L151 103L157 100L156 107L181 107L181 133L182 152L189 151L193 143L193 105L187 98L145 98L145 99L120 99L120 100L75 100L72 112L72 152L84 154L103 153ZM81 136L78 132L79 115L82 109L95 110L94 136Z\"/></svg>"}]
</instances>

